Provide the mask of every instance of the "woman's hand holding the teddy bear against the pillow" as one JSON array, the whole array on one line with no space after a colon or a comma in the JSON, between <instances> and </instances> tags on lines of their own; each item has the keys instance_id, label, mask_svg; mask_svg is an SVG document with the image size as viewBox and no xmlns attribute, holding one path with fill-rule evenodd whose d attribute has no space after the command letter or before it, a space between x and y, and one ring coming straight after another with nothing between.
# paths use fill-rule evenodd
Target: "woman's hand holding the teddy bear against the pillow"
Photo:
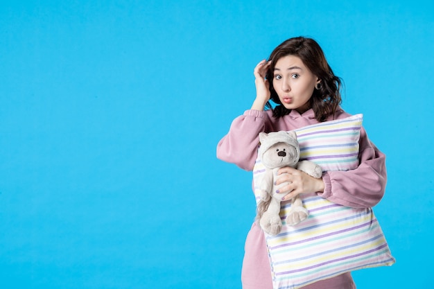
<instances>
[{"instance_id":1,"label":"woman's hand holding the teddy bear against the pillow","mask_svg":"<svg viewBox=\"0 0 434 289\"><path fill-rule=\"evenodd\" d=\"M285 166L277 172L276 185L283 184L279 187L278 193L285 195L281 200L289 200L295 198L300 193L315 193L324 191L324 182L322 178L311 177L310 175ZM287 183L286 185L284 183Z\"/></svg>"}]
</instances>

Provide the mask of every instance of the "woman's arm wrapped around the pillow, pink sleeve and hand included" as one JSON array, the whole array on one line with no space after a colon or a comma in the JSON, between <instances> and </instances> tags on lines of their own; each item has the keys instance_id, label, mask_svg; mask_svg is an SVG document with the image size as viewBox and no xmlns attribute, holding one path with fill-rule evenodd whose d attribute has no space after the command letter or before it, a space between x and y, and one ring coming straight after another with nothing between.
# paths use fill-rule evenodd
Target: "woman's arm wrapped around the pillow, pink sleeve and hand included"
<instances>
[{"instance_id":1,"label":"woman's arm wrapped around the pillow, pink sleeve and hand included","mask_svg":"<svg viewBox=\"0 0 434 289\"><path fill-rule=\"evenodd\" d=\"M329 171L322 179L315 179L295 168L281 168L276 184L282 184L279 188L282 200L316 192L322 198L347 207L374 207L383 198L387 182L385 155L370 142L363 128L359 144L360 164L354 170Z\"/></svg>"}]
</instances>

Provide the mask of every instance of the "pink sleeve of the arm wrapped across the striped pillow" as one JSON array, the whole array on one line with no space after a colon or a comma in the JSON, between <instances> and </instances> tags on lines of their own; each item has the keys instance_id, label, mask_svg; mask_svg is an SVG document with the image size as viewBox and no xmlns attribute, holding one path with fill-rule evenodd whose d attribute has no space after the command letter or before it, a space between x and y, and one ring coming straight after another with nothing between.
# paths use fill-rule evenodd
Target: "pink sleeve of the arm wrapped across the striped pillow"
<instances>
[{"instance_id":1,"label":"pink sleeve of the arm wrapped across the striped pillow","mask_svg":"<svg viewBox=\"0 0 434 289\"><path fill-rule=\"evenodd\" d=\"M374 207L383 198L387 182L385 155L367 138L363 128L359 143L358 168L324 173L324 192L319 193L322 198L356 208Z\"/></svg>"}]
</instances>

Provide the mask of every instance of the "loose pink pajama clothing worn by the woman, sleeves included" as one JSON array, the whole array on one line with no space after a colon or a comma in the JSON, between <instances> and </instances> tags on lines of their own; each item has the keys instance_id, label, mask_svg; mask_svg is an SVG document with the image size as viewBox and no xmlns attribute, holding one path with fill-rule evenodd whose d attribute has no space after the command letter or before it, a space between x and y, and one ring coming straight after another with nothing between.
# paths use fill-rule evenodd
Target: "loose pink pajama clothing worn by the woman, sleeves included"
<instances>
[{"instance_id":1,"label":"loose pink pajama clothing worn by the woman, sleeves included","mask_svg":"<svg viewBox=\"0 0 434 289\"><path fill-rule=\"evenodd\" d=\"M329 116L327 121L344 119L350 116L342 109ZM253 170L257 159L259 132L295 130L306 125L318 123L313 110L304 114L291 110L290 114L276 119L271 110L247 110L232 122L229 132L217 146L217 157L236 164L245 170ZM324 172L324 192L322 198L347 207L374 207L383 198L387 174L385 155L367 138L362 128L359 140L358 168L347 171ZM245 243L245 256L242 272L243 288L272 288L270 263L266 251L263 231L255 224ZM328 280L306 286L305 288L355 288L351 274L342 274Z\"/></svg>"}]
</instances>

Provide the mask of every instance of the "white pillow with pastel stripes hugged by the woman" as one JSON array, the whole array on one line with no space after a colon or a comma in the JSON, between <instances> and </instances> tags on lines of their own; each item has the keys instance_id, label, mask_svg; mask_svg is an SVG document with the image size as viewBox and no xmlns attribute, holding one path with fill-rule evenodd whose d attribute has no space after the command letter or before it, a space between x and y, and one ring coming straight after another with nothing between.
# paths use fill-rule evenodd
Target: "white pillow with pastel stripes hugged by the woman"
<instances>
[{"instance_id":1,"label":"white pillow with pastel stripes hugged by the woman","mask_svg":"<svg viewBox=\"0 0 434 289\"><path fill-rule=\"evenodd\" d=\"M357 168L362 121L363 115L356 114L295 130L300 159L315 161L324 171ZM254 181L263 172L257 159ZM277 236L266 234L273 288L297 289L345 272L394 263L371 208L345 207L315 193L300 196L309 217L294 227L284 223ZM282 220L289 209L290 201L281 203Z\"/></svg>"}]
</instances>

